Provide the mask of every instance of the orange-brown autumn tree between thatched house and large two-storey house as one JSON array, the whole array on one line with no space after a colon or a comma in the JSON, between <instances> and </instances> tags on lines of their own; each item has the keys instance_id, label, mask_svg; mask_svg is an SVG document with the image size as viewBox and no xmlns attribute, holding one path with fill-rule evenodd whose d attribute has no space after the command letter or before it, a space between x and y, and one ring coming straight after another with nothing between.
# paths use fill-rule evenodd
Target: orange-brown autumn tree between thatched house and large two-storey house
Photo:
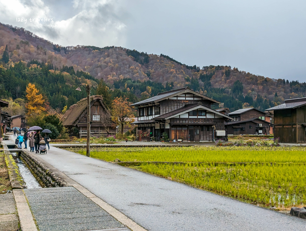
<instances>
[{"instance_id":1,"label":"orange-brown autumn tree between thatched house and large two-storey house","mask_svg":"<svg viewBox=\"0 0 306 231\"><path fill-rule=\"evenodd\" d=\"M123 134L124 125L131 126L134 122L134 114L129 104L128 98L122 98L122 96L114 98L112 103L112 121L121 126L121 134Z\"/></svg>"}]
</instances>

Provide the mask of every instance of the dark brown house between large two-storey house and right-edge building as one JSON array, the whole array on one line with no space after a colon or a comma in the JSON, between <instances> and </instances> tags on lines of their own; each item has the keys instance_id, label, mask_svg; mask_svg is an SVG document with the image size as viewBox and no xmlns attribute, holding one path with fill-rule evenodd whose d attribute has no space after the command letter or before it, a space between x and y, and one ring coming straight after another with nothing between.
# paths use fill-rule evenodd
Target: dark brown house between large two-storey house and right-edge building
<instances>
[{"instance_id":1,"label":"dark brown house between large two-storey house and right-edge building","mask_svg":"<svg viewBox=\"0 0 306 231\"><path fill-rule=\"evenodd\" d=\"M227 115L234 118L234 121L225 124L228 135L273 134L271 115L256 108L243 108Z\"/></svg>"}]
</instances>

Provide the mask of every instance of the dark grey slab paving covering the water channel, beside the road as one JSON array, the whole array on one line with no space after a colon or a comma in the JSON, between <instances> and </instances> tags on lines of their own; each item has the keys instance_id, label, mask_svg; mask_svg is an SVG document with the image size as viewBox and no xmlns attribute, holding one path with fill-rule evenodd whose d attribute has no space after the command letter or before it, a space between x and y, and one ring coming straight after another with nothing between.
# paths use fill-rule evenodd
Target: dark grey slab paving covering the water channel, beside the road
<instances>
[{"instance_id":1,"label":"dark grey slab paving covering the water channel, beside the road","mask_svg":"<svg viewBox=\"0 0 306 231\"><path fill-rule=\"evenodd\" d=\"M40 231L129 231L74 187L24 189Z\"/></svg>"}]
</instances>

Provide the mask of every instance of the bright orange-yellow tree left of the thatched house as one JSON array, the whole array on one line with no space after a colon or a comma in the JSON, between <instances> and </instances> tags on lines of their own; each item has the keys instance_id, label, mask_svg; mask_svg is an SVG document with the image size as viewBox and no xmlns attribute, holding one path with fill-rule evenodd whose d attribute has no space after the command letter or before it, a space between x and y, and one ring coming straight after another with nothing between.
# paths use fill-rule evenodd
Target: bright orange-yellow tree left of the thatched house
<instances>
[{"instance_id":1,"label":"bright orange-yellow tree left of the thatched house","mask_svg":"<svg viewBox=\"0 0 306 231\"><path fill-rule=\"evenodd\" d=\"M35 84L29 83L26 89L28 102L25 105L25 108L28 110L27 115L31 114L40 114L46 109L42 106L45 100L43 99L42 94L38 94L39 90L36 89Z\"/></svg>"}]
</instances>

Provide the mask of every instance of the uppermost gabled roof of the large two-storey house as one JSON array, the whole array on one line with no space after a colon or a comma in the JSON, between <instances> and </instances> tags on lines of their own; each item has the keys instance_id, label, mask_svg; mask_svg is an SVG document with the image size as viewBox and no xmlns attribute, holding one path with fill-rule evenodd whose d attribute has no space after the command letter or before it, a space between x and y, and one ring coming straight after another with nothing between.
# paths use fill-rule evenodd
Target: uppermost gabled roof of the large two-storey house
<instances>
[{"instance_id":1,"label":"uppermost gabled roof of the large two-storey house","mask_svg":"<svg viewBox=\"0 0 306 231\"><path fill-rule=\"evenodd\" d=\"M159 102L159 101L162 101L163 99L166 99L166 98L170 98L170 97L174 97L176 95L179 95L179 94L184 94L184 93L192 93L192 94L195 94L201 98L205 98L207 100L210 100L212 101L214 104L217 103L219 104L220 102L217 101L217 100L214 100L212 98L209 98L205 95L202 95L196 91L193 91L193 90L190 90L189 87L183 87L183 88L179 88L179 89L175 89L175 90L170 90L170 91L165 91L165 92L160 92L158 93L157 95L151 97L151 98L148 98L148 99L145 99L145 100L142 100L140 102L137 102L137 103L133 103L131 104L130 106L137 106L137 105L143 105L143 104L148 104L148 103L153 103L153 102Z\"/></svg>"}]
</instances>

